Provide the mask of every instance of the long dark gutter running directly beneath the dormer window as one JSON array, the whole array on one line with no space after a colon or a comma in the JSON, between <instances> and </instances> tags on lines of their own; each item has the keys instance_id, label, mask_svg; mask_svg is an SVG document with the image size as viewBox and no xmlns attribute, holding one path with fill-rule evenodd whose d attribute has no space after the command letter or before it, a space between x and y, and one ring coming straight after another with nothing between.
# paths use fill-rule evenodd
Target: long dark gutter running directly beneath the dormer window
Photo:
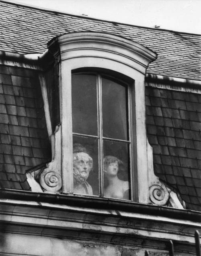
<instances>
[{"instance_id":1,"label":"long dark gutter running directly beneath the dormer window","mask_svg":"<svg viewBox=\"0 0 201 256\"><path fill-rule=\"evenodd\" d=\"M175 209L166 206L119 201L109 198L92 198L87 196L80 197L64 194L35 193L31 191L21 191L14 189L0 189L0 198L8 200L6 201L7 204L9 204L9 199L47 202L51 204L64 204L68 206L97 208L102 210L123 210L125 212L164 216L167 218L189 220L194 222L201 221L201 212L185 209Z\"/></svg>"}]
</instances>

